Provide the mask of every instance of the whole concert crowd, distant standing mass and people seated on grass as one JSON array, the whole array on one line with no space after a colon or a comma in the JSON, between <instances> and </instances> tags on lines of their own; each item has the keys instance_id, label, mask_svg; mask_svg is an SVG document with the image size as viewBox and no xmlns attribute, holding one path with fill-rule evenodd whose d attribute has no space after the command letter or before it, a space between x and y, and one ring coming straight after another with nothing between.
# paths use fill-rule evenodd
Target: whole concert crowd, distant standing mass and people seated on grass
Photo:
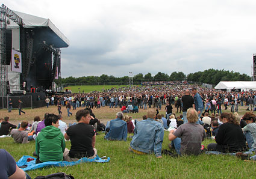
<instances>
[{"instance_id":1,"label":"whole concert crowd, distant standing mass and people seated on grass","mask_svg":"<svg viewBox=\"0 0 256 179\"><path fill-rule=\"evenodd\" d=\"M57 105L58 116L46 113L43 121L40 117L35 117L32 125L22 121L18 129L5 117L0 126L0 135L11 135L14 142L36 141L36 163L95 158L96 133L99 131L105 132L104 139L109 141L126 141L128 133L133 133L128 150L136 154L155 154L157 158L166 153L183 156L210 151L256 159L250 156L256 150L253 91L223 92L179 83L172 88L164 85L130 86L86 94L56 95L47 98L47 103ZM249 112L241 119L237 112L244 104L248 105ZM159 113L162 105L165 116ZM75 114L77 123L67 127L61 121L63 106L67 108L68 116L72 115L71 108L79 108ZM222 112L222 106L230 106L231 111ZM108 121L105 126L93 114L93 107L120 108L120 111L116 119ZM125 115L141 109L148 109L143 120L133 120ZM176 116L175 109L176 113L180 110L183 114ZM170 151L167 152L162 150L164 130L169 131ZM214 137L216 143L204 148L202 141L207 137ZM71 142L70 150L66 148L65 139Z\"/></svg>"}]
</instances>

